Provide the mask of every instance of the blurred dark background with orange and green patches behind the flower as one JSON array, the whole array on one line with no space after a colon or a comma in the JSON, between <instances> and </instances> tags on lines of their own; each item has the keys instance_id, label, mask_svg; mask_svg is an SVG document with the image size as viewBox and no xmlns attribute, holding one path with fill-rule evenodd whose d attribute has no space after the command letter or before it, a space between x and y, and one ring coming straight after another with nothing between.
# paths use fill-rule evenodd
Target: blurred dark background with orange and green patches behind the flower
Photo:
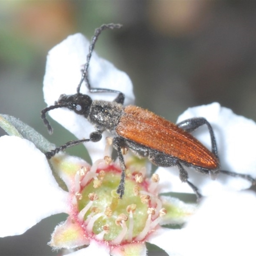
<instances>
[{"instance_id":1,"label":"blurred dark background with orange and green patches behind the flower","mask_svg":"<svg viewBox=\"0 0 256 256\"><path fill-rule=\"evenodd\" d=\"M176 122L188 107L218 101L256 120L256 1L0 1L0 113L57 145L75 139L52 120L50 137L40 119L46 55L110 22L123 28L104 32L96 51L130 76L136 105ZM57 255L47 242L60 220L1 238L0 255Z\"/></svg>"}]
</instances>

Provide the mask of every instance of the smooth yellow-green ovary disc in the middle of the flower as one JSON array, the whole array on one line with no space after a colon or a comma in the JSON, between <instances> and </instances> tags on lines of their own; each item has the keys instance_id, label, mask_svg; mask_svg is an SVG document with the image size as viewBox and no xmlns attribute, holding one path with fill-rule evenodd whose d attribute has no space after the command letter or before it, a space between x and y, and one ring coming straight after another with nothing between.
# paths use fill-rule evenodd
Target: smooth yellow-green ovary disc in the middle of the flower
<instances>
[{"instance_id":1,"label":"smooth yellow-green ovary disc in the middle of the flower","mask_svg":"<svg viewBox=\"0 0 256 256\"><path fill-rule=\"evenodd\" d=\"M140 234L140 232L145 227L145 223L147 220L147 209L148 204L142 204L140 200L140 196L134 195L134 187L138 186L134 180L130 180L126 178L125 180L125 193L122 199L114 198L111 195L113 190L116 190L119 181L120 181L120 173L116 172L108 172L105 174L105 177L102 181L102 185L99 188L93 188L93 180L88 183L82 191L82 199L77 200L78 203L78 211L81 211L85 205L89 203L88 195L89 193L96 193L99 197L97 200L94 200L92 207L96 206L99 208L100 212L105 212L106 207L110 207L112 210L112 215L107 217L105 214L98 218L93 225L93 233L99 234L103 230L104 225L109 226L109 232L104 235L104 240L111 241L118 236L121 232L121 226L117 226L115 220L117 216L121 213L124 213L128 216L128 220L125 222L127 228L129 228L129 213L126 211L126 207L130 204L136 204L136 210L133 212L133 232L132 237L135 237ZM89 210L85 216L84 220L87 219L88 215L91 213Z\"/></svg>"}]
</instances>

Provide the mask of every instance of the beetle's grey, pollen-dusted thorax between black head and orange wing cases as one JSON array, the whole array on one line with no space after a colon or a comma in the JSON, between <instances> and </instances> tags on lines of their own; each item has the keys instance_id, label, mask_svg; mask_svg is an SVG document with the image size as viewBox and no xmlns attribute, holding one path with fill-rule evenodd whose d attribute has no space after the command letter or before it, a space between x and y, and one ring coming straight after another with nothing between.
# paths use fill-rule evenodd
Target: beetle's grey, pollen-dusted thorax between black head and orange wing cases
<instances>
[{"instance_id":1,"label":"beetle's grey, pollen-dusted thorax between black head and orange wing cases","mask_svg":"<svg viewBox=\"0 0 256 256\"><path fill-rule=\"evenodd\" d=\"M114 101L94 100L91 105L88 121L95 125L97 130L112 131L124 114L123 108L122 104Z\"/></svg>"}]
</instances>

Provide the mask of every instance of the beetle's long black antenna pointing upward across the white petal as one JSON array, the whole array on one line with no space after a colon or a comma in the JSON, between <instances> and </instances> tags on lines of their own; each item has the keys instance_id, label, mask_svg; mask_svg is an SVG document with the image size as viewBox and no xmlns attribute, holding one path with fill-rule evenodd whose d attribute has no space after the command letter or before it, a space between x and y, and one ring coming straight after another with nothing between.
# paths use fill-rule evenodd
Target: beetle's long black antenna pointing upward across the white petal
<instances>
[{"instance_id":1,"label":"beetle's long black antenna pointing upward across the white petal","mask_svg":"<svg viewBox=\"0 0 256 256\"><path fill-rule=\"evenodd\" d=\"M80 93L80 87L84 80L85 80L87 88L91 91L91 85L88 80L88 68L89 68L89 63L90 63L90 59L92 57L92 52L93 52L95 43L96 43L100 33L107 28L114 29L114 28L121 28L121 27L122 27L121 24L109 23L109 24L103 24L100 26L100 28L95 29L94 36L92 37L92 42L89 46L89 53L87 54L87 57L86 57L86 63L84 64L84 71L83 71L80 83L78 84L77 89L76 89L77 93ZM97 92L100 92L100 91L97 91Z\"/></svg>"}]
</instances>

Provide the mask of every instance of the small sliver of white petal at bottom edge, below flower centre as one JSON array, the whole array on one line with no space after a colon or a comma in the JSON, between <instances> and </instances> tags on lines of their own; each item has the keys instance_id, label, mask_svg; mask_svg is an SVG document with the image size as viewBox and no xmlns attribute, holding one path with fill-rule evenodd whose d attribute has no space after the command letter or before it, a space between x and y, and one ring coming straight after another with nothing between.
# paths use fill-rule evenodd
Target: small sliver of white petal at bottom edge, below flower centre
<instances>
[{"instance_id":1,"label":"small sliver of white petal at bottom edge, below flower centre","mask_svg":"<svg viewBox=\"0 0 256 256\"><path fill-rule=\"evenodd\" d=\"M100 256L109 256L109 247L104 244L99 244L95 241L92 241L90 245L86 248L78 250L76 252L71 252L65 254L64 256L84 256L84 255L100 255Z\"/></svg>"}]
</instances>

